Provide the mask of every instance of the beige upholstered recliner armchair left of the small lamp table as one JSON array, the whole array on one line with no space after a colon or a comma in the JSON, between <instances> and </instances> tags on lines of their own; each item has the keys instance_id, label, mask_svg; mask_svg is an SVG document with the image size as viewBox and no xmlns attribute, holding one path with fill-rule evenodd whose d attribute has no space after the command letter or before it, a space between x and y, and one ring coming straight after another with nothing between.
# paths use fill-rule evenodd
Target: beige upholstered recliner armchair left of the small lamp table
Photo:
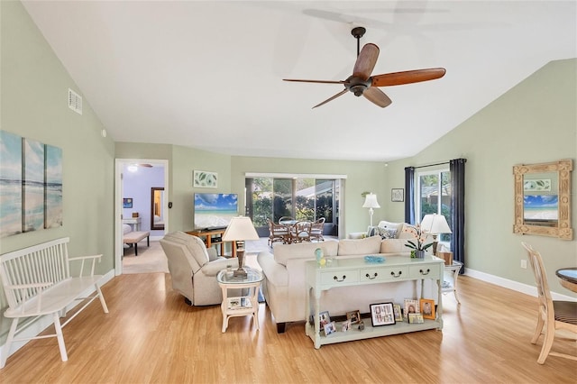
<instances>
[{"instance_id":1,"label":"beige upholstered recliner armchair left of the small lamp table","mask_svg":"<svg viewBox=\"0 0 577 384\"><path fill-rule=\"evenodd\" d=\"M183 232L167 233L160 245L169 261L172 289L191 306L221 304L223 295L216 274L228 265L238 268L236 258L219 257L214 248L207 250L197 236Z\"/></svg>"}]
</instances>

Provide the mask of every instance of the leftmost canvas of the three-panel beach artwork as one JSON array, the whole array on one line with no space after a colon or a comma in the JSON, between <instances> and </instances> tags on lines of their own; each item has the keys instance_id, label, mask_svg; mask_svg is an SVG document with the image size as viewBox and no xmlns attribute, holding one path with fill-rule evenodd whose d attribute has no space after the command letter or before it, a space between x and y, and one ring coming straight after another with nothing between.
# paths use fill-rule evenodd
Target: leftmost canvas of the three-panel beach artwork
<instances>
[{"instance_id":1,"label":"leftmost canvas of the three-panel beach artwork","mask_svg":"<svg viewBox=\"0 0 577 384\"><path fill-rule=\"evenodd\" d=\"M0 237L22 233L22 136L0 131Z\"/></svg>"}]
</instances>

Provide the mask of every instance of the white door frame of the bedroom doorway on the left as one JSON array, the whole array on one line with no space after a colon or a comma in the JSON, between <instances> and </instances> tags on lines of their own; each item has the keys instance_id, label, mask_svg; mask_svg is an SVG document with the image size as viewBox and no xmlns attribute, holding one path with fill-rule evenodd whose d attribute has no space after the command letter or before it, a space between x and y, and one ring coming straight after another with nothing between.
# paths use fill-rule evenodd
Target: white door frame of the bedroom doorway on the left
<instances>
[{"instance_id":1,"label":"white door frame of the bedroom doorway on the left","mask_svg":"<svg viewBox=\"0 0 577 384\"><path fill-rule=\"evenodd\" d=\"M164 193L166 198L163 202L164 233L169 232L169 160L161 159L115 159L114 160L114 275L123 274L123 168L124 164L151 163L161 164L164 167Z\"/></svg>"}]
</instances>

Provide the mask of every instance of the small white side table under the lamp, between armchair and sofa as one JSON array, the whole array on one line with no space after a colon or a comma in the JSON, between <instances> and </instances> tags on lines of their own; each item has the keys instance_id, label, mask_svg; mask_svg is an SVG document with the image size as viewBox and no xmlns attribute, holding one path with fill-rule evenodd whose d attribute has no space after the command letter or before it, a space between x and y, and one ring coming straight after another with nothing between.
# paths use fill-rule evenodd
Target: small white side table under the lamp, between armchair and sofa
<instances>
[{"instance_id":1,"label":"small white side table under the lamp, between armchair and sofa","mask_svg":"<svg viewBox=\"0 0 577 384\"><path fill-rule=\"evenodd\" d=\"M263 279L260 270L244 267L246 278L233 276L233 271L221 270L216 275L218 285L223 289L223 333L228 327L228 319L234 316L252 315L252 322L259 329L258 293ZM234 296L229 297L228 290L234 289Z\"/></svg>"}]
</instances>

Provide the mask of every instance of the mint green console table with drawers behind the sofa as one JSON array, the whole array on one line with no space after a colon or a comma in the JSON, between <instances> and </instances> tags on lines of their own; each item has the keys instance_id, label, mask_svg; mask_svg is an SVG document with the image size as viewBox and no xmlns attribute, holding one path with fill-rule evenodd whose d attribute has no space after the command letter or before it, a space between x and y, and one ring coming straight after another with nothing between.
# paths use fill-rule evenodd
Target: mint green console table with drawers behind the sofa
<instances>
[{"instance_id":1,"label":"mint green console table with drawers behind the sofa","mask_svg":"<svg viewBox=\"0 0 577 384\"><path fill-rule=\"evenodd\" d=\"M318 349L321 345L330 343L343 343L353 340L368 339L372 337L389 336L391 334L406 334L409 332L424 331L428 329L443 329L443 300L442 284L444 275L444 261L435 256L425 256L424 259L410 259L402 256L388 256L382 263L369 263L362 257L339 259L334 258L329 266L318 267L316 261L307 261L307 321L305 332L315 343ZM320 298L324 290L335 287L355 287L368 284L381 284L383 297L387 295L387 284L398 281L420 281L421 296L423 295L423 281L433 279L436 281L437 305L435 320L425 319L424 323L408 324L407 319L395 325L371 326L371 319L363 319L364 329L359 330L356 325L347 332L337 332L325 336L321 333L319 312ZM410 296L408 296L410 297ZM402 305L402 303L401 303ZM354 310L356 308L351 308ZM314 324L309 321L311 315Z\"/></svg>"}]
</instances>

